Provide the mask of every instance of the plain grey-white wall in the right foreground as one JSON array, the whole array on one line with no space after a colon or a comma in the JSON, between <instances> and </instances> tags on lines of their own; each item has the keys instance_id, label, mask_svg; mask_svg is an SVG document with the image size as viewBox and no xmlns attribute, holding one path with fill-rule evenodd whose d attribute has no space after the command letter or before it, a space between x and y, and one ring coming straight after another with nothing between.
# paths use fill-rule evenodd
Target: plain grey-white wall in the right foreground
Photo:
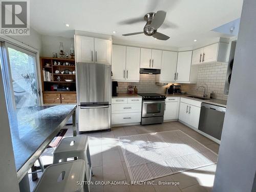
<instances>
[{"instance_id":1,"label":"plain grey-white wall in the right foreground","mask_svg":"<svg viewBox=\"0 0 256 192\"><path fill-rule=\"evenodd\" d=\"M214 192L256 191L256 1L244 0Z\"/></svg>"}]
</instances>

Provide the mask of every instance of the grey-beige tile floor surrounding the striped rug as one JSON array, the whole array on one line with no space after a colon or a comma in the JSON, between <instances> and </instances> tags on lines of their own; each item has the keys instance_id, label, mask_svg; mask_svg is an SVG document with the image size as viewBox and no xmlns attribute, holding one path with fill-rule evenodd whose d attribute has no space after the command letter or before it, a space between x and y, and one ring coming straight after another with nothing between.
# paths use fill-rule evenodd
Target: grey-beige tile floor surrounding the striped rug
<instances>
[{"instance_id":1,"label":"grey-beige tile floor surrounding the striped rug","mask_svg":"<svg viewBox=\"0 0 256 192\"><path fill-rule=\"evenodd\" d=\"M65 136L72 135L72 126L69 127ZM133 125L113 127L112 131L82 134L89 136L89 147L93 166L94 177L92 181L130 181L129 173L123 158L122 150L119 146L118 137L126 135L137 135L144 133L154 133L162 131L181 130L200 143L218 153L219 144L198 134L180 122L165 122L154 125ZM52 161L53 148L42 154L44 163ZM177 181L179 185L91 185L92 192L203 192L211 191L216 165L205 166L187 172L178 173L153 180ZM30 181L31 186L35 186L37 181ZM32 188L31 188L32 190Z\"/></svg>"}]
</instances>

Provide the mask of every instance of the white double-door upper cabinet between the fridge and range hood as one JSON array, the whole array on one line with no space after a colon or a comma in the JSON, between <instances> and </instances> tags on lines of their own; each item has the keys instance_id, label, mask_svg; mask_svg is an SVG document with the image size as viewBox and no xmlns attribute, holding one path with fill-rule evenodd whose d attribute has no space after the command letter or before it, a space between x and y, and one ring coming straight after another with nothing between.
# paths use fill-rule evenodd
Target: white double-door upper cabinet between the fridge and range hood
<instances>
[{"instance_id":1,"label":"white double-door upper cabinet between the fridge and range hood","mask_svg":"<svg viewBox=\"0 0 256 192\"><path fill-rule=\"evenodd\" d=\"M138 82L139 70L140 48L113 45L113 80Z\"/></svg>"}]
</instances>

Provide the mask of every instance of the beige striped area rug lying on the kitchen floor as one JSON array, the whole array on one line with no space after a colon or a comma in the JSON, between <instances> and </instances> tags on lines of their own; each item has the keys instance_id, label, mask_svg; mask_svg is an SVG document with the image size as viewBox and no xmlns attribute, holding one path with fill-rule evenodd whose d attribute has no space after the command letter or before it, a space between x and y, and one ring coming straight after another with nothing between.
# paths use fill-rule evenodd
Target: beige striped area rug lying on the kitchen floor
<instances>
[{"instance_id":1,"label":"beige striped area rug lying on the kitchen floor","mask_svg":"<svg viewBox=\"0 0 256 192\"><path fill-rule=\"evenodd\" d=\"M131 181L217 163L218 155L180 130L119 137Z\"/></svg>"}]
</instances>

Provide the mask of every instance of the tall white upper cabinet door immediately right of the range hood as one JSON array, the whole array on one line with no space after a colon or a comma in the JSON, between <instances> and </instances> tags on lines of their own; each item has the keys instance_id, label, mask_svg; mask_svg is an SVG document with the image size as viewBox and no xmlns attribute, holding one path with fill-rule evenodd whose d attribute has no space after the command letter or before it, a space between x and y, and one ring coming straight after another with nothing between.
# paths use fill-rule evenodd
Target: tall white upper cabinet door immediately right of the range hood
<instances>
[{"instance_id":1,"label":"tall white upper cabinet door immediately right of the range hood","mask_svg":"<svg viewBox=\"0 0 256 192\"><path fill-rule=\"evenodd\" d=\"M177 67L177 52L163 51L160 81L174 82L176 67Z\"/></svg>"}]
</instances>

